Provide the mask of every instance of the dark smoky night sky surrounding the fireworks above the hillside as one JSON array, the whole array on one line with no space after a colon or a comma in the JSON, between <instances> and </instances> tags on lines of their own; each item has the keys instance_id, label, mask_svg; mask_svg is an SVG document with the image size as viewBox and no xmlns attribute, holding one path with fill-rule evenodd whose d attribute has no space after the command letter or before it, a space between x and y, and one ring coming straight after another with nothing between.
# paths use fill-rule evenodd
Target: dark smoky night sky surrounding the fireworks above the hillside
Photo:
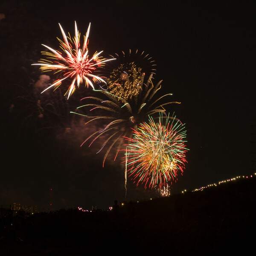
<instances>
[{"instance_id":1,"label":"dark smoky night sky surrounding the fireworks above the hillside","mask_svg":"<svg viewBox=\"0 0 256 256\"><path fill-rule=\"evenodd\" d=\"M66 103L45 93L38 118L33 87L41 71L31 64L41 58L41 44L58 48L58 23L73 36L75 20L81 35L91 23L89 54L149 53L161 93L181 102L168 111L186 124L188 163L172 194L255 172L255 12L254 1L1 1L0 204L48 209L51 188L53 209L107 209L115 199L159 195L128 179L125 199L122 164L110 159L102 168L103 154L80 147L97 127L69 113L79 94Z\"/></svg>"}]
</instances>

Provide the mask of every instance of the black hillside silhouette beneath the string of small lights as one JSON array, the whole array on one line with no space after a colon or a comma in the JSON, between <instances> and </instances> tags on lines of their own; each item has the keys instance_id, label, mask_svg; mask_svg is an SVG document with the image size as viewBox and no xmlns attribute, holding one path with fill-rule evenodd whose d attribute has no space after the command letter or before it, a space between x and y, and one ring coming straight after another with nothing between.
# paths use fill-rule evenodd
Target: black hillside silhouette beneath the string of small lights
<instances>
[{"instance_id":1,"label":"black hillside silhouette beneath the string of small lights","mask_svg":"<svg viewBox=\"0 0 256 256\"><path fill-rule=\"evenodd\" d=\"M203 191L123 202L115 214L61 209L12 217L12 226L1 226L0 255L251 255L255 185L253 176Z\"/></svg>"}]
</instances>

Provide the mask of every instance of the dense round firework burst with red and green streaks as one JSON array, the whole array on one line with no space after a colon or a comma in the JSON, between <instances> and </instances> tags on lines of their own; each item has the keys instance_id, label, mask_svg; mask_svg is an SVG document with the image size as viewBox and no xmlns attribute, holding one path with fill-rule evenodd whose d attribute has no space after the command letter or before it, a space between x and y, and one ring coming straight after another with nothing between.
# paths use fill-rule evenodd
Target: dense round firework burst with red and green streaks
<instances>
[{"instance_id":1,"label":"dense round firework burst with red and green streaks","mask_svg":"<svg viewBox=\"0 0 256 256\"><path fill-rule=\"evenodd\" d=\"M178 172L183 173L187 151L184 128L175 117L160 114L158 122L149 117L148 123L141 123L133 137L127 138L127 172L137 185L161 188L175 180Z\"/></svg>"}]
</instances>

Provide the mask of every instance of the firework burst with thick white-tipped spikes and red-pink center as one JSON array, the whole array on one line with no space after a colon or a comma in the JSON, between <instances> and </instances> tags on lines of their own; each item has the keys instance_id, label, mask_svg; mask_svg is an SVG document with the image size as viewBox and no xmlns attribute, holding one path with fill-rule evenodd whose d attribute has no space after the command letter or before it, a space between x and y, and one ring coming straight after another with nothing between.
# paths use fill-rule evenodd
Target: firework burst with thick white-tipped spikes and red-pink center
<instances>
[{"instance_id":1,"label":"firework burst with thick white-tipped spikes and red-pink center","mask_svg":"<svg viewBox=\"0 0 256 256\"><path fill-rule=\"evenodd\" d=\"M45 90L48 90L51 87L57 88L61 85L62 81L70 78L72 82L67 92L65 93L65 95L68 93L67 98L69 98L70 95L72 95L76 90L76 87L79 87L83 80L85 81L85 85L87 87L89 87L89 85L93 87L93 82L105 83L105 81L101 77L95 76L92 73L98 67L104 66L106 61L111 61L112 59L105 59L101 57L100 54L103 51L95 52L93 57L89 57L88 37L90 32L90 24L88 26L86 36L84 36L84 43L82 46L80 45L80 33L77 29L76 22L74 38L71 38L70 35L67 36L60 24L59 26L63 36L63 40L58 38L62 52L59 52L42 44L44 47L50 50L50 52L42 52L42 54L47 56L47 59L41 59L41 63L33 64L40 65L42 71L53 70L55 71L55 73L61 72L63 76L62 79L57 79Z\"/></svg>"}]
</instances>

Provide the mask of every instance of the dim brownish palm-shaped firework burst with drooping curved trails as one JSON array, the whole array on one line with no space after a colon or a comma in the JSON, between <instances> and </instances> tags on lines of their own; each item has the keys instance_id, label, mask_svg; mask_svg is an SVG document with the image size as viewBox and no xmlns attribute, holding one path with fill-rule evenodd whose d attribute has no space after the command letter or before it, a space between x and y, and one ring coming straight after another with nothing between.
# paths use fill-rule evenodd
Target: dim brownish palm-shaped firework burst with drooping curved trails
<instances>
[{"instance_id":1,"label":"dim brownish palm-shaped firework burst with drooping curved trails","mask_svg":"<svg viewBox=\"0 0 256 256\"><path fill-rule=\"evenodd\" d=\"M86 102L86 104L80 106L78 109L80 111L85 111L85 114L82 112L77 112L76 114L81 114L87 119L90 119L90 121L107 121L104 129L96 131L95 133L87 137L87 139L84 141L85 143L87 142L87 140L92 139L93 143L100 137L106 137L106 139L102 143L102 148L104 148L105 146L106 148L108 148L104 156L104 161L113 146L116 146L117 155L119 149L124 144L124 137L131 138L133 132L132 129L137 131L137 125L140 124L140 122L145 121L148 115L152 116L155 113L165 113L165 109L163 108L165 105L169 105L171 103L179 103L166 102L160 104L160 101L164 97L170 96L172 94L166 94L158 99L154 99L155 94L161 87L161 81L153 86L151 78L152 76L150 76L146 83L143 83L144 76L142 75L140 77L140 85L142 87L142 90L140 90L138 95L136 95L131 101L115 96L107 90L98 90L96 92L97 94L102 94L102 97L100 98L85 97L84 99L82 99L84 102ZM100 149L100 151L102 150L102 148Z\"/></svg>"}]
</instances>

